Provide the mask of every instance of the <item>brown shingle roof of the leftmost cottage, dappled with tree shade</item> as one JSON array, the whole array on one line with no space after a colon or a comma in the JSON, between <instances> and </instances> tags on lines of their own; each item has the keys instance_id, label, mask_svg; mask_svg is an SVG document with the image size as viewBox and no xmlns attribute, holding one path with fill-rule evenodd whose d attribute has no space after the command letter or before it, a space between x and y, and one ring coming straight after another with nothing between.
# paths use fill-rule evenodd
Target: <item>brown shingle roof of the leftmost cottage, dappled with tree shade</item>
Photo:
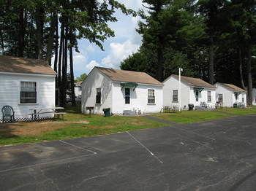
<instances>
[{"instance_id":1,"label":"brown shingle roof of the leftmost cottage, dappled with tree shade","mask_svg":"<svg viewBox=\"0 0 256 191\"><path fill-rule=\"evenodd\" d=\"M56 75L46 61L32 58L0 56L0 71L24 74Z\"/></svg>"}]
</instances>

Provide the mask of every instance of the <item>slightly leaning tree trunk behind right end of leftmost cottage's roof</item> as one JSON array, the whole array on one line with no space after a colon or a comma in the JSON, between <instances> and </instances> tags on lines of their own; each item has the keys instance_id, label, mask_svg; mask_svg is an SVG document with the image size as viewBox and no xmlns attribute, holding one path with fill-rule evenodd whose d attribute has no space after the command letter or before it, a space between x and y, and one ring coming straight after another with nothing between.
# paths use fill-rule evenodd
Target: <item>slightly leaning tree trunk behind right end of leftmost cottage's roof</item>
<instances>
[{"instance_id":1,"label":"slightly leaning tree trunk behind right end of leftmost cottage's roof","mask_svg":"<svg viewBox=\"0 0 256 191\"><path fill-rule=\"evenodd\" d=\"M56 31L55 30L56 22L57 22L56 12L54 12L50 17L50 32L49 32L47 48L46 48L46 56L45 56L45 59L49 65L51 65L51 57L53 54L53 39L54 39L54 32Z\"/></svg>"}]
</instances>

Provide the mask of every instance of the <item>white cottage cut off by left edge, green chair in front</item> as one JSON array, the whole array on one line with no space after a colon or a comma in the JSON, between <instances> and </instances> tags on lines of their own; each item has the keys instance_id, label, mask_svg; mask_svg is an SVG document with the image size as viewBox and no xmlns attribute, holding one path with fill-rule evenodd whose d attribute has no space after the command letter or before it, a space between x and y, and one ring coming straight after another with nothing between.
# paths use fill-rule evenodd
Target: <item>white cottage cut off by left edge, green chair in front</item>
<instances>
[{"instance_id":1,"label":"white cottage cut off by left edge, green chair in front","mask_svg":"<svg viewBox=\"0 0 256 191\"><path fill-rule=\"evenodd\" d=\"M16 120L30 118L32 109L53 108L55 78L55 71L45 61L0 56L0 120L6 105L12 106Z\"/></svg>"}]
</instances>

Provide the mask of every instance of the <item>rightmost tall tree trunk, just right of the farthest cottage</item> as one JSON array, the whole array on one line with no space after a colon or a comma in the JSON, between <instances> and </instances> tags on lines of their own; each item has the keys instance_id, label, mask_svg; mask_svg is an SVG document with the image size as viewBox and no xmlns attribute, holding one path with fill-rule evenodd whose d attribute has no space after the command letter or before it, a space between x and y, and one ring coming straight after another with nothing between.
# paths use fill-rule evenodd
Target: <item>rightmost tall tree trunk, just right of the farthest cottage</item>
<instances>
[{"instance_id":1,"label":"rightmost tall tree trunk, just right of the farthest cottage","mask_svg":"<svg viewBox=\"0 0 256 191\"><path fill-rule=\"evenodd\" d=\"M252 105L252 47L247 50L247 104Z\"/></svg>"}]
</instances>

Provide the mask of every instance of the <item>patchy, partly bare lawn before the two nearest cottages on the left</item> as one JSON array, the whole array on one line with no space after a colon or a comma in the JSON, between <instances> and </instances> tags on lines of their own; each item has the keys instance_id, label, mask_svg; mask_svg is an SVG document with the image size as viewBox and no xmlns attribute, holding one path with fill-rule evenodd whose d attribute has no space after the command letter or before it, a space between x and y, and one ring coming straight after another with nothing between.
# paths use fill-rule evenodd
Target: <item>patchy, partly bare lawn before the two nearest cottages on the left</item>
<instances>
[{"instance_id":1,"label":"patchy, partly bare lawn before the two nearest cottages on the left","mask_svg":"<svg viewBox=\"0 0 256 191\"><path fill-rule=\"evenodd\" d=\"M161 122L145 117L102 117L80 114L79 109L69 107L64 121L16 122L0 124L0 145L23 144L39 141L97 136L126 130L158 128Z\"/></svg>"}]
</instances>

